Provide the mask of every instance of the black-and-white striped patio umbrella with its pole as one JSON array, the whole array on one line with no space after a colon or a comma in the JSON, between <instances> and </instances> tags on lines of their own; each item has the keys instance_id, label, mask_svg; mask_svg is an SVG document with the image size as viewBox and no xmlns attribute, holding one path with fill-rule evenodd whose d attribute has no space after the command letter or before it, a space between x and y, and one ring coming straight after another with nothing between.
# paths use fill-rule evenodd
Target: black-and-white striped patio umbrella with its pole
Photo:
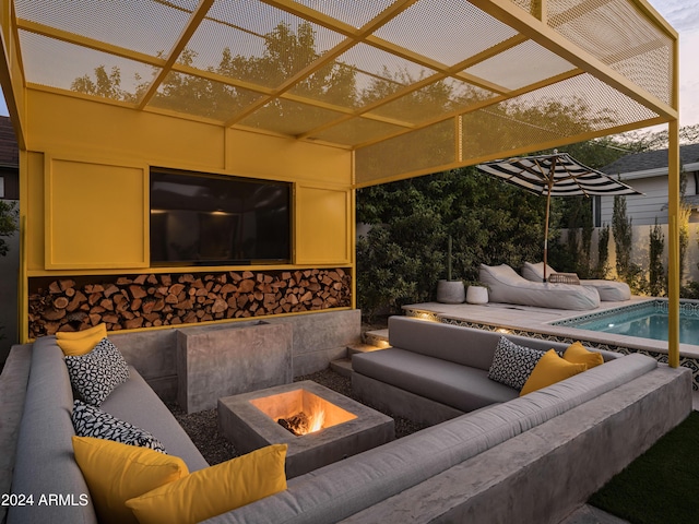
<instances>
[{"instance_id":1,"label":"black-and-white striped patio umbrella with its pole","mask_svg":"<svg viewBox=\"0 0 699 524\"><path fill-rule=\"evenodd\" d=\"M506 182L546 196L544 282L546 282L548 258L548 214L552 196L641 194L630 186L580 164L568 153L558 153L555 150L550 155L514 157L479 164L476 167Z\"/></svg>"}]
</instances>

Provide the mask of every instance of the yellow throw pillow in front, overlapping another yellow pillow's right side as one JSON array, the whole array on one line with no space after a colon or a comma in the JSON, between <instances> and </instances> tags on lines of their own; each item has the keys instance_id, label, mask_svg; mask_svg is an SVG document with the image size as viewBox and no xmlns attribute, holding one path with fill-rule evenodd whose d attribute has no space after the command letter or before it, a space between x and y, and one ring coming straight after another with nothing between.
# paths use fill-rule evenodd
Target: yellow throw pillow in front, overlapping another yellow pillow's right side
<instances>
[{"instance_id":1,"label":"yellow throw pillow in front, overlapping another yellow pillow's right side","mask_svg":"<svg viewBox=\"0 0 699 524\"><path fill-rule=\"evenodd\" d=\"M141 524L205 521L286 489L286 444L200 469L127 501Z\"/></svg>"}]
</instances>

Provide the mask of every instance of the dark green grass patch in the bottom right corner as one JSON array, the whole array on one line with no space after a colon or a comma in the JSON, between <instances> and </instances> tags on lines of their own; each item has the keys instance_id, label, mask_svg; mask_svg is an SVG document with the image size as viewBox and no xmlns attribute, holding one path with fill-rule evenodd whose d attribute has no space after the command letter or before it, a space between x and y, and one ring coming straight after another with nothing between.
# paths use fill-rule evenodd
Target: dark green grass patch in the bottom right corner
<instances>
[{"instance_id":1,"label":"dark green grass patch in the bottom right corner","mask_svg":"<svg viewBox=\"0 0 699 524\"><path fill-rule=\"evenodd\" d=\"M699 412L691 412L589 503L632 524L696 524L698 501Z\"/></svg>"}]
</instances>

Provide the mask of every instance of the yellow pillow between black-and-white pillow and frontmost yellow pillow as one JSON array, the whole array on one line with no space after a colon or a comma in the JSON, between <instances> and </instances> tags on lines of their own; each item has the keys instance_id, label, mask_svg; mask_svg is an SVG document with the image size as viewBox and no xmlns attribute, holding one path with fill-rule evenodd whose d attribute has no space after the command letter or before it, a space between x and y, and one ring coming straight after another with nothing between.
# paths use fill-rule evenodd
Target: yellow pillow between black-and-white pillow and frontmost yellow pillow
<instances>
[{"instance_id":1,"label":"yellow pillow between black-and-white pillow and frontmost yellow pillow","mask_svg":"<svg viewBox=\"0 0 699 524\"><path fill-rule=\"evenodd\" d=\"M138 524L126 501L189 474L185 461L147 448L92 437L73 437L99 522Z\"/></svg>"}]
</instances>

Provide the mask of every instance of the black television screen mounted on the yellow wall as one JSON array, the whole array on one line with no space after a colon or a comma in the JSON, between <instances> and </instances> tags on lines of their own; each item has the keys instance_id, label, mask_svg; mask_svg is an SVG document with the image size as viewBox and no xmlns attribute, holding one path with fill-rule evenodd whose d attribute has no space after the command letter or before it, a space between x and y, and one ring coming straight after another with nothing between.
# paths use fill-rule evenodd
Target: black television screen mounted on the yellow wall
<instances>
[{"instance_id":1,"label":"black television screen mounted on the yellow wall","mask_svg":"<svg viewBox=\"0 0 699 524\"><path fill-rule=\"evenodd\" d=\"M286 182L151 170L151 264L291 262Z\"/></svg>"}]
</instances>

